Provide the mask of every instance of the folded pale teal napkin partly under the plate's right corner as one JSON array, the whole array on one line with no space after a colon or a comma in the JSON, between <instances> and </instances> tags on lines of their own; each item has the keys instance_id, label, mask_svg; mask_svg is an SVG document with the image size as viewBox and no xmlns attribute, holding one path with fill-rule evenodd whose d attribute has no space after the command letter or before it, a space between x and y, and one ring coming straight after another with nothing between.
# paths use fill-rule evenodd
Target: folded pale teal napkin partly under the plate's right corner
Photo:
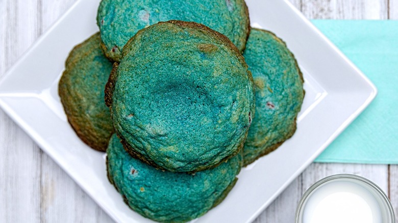
<instances>
[{"instance_id":1,"label":"folded pale teal napkin partly under the plate's right corner","mask_svg":"<svg viewBox=\"0 0 398 223\"><path fill-rule=\"evenodd\" d=\"M398 21L312 22L379 90L315 162L398 164Z\"/></svg>"}]
</instances>

